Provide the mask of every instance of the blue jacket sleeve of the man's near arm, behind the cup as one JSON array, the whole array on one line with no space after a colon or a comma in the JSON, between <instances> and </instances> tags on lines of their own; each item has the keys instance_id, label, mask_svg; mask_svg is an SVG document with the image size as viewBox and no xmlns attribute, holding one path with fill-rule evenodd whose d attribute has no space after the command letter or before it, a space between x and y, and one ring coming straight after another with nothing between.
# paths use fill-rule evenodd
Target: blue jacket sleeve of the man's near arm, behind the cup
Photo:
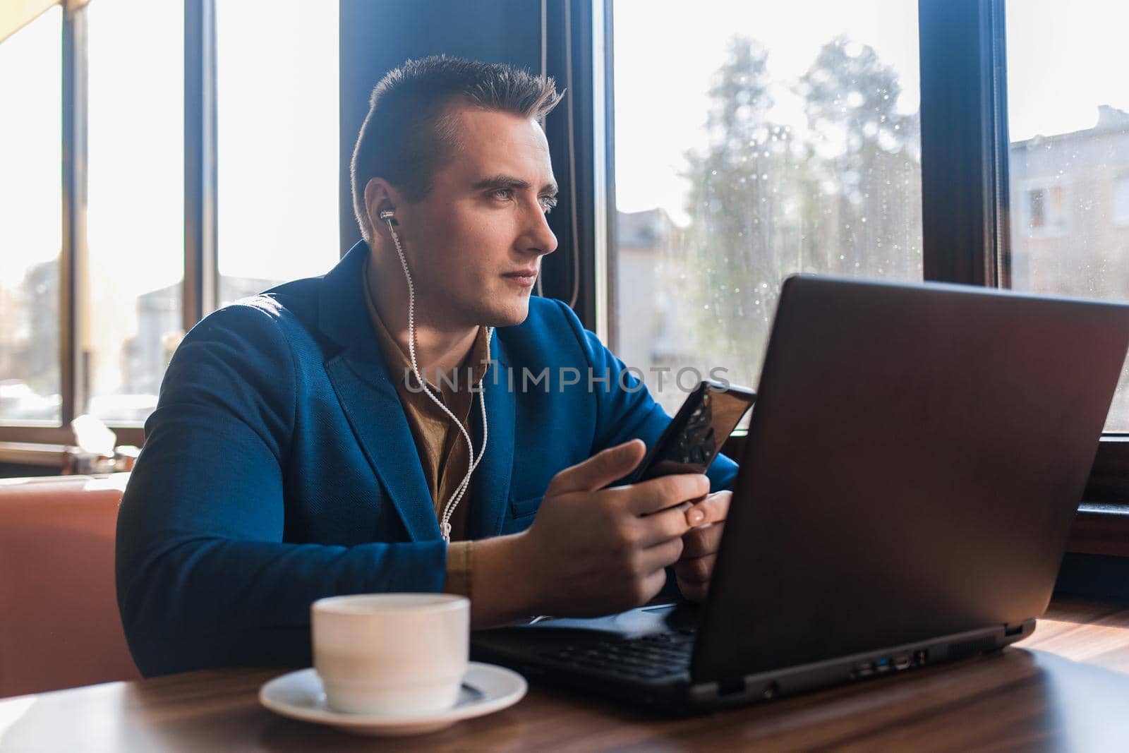
<instances>
[{"instance_id":1,"label":"blue jacket sleeve of the man's near arm, behind the cup","mask_svg":"<svg viewBox=\"0 0 1129 753\"><path fill-rule=\"evenodd\" d=\"M309 605L438 592L443 541L283 543L297 377L277 304L203 319L169 364L117 519L117 601L147 676L224 665L308 666Z\"/></svg>"}]
</instances>

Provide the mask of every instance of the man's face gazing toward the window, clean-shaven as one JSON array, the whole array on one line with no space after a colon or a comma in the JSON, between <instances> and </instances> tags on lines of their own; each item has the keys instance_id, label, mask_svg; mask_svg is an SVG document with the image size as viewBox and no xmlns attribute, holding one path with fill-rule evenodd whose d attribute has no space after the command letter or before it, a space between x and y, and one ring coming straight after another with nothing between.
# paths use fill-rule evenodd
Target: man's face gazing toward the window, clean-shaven
<instances>
[{"instance_id":1,"label":"man's face gazing toward the window, clean-shaven","mask_svg":"<svg viewBox=\"0 0 1129 753\"><path fill-rule=\"evenodd\" d=\"M422 201L397 211L418 316L445 327L520 324L541 257L557 248L549 142L536 121L457 107L462 141ZM428 307L427 309L425 307Z\"/></svg>"}]
</instances>

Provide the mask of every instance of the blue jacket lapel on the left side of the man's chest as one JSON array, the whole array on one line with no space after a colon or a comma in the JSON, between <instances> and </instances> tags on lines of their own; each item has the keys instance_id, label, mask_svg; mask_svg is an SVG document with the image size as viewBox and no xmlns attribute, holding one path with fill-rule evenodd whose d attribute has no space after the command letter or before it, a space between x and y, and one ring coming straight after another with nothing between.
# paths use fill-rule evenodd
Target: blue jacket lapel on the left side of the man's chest
<instances>
[{"instance_id":1,"label":"blue jacket lapel on the left side of the man's chest","mask_svg":"<svg viewBox=\"0 0 1129 753\"><path fill-rule=\"evenodd\" d=\"M368 253L368 245L358 243L323 280L320 326L343 348L326 360L325 371L408 535L412 541L439 539L439 524L415 443L392 382L394 377L387 373L368 321L361 288Z\"/></svg>"}]
</instances>

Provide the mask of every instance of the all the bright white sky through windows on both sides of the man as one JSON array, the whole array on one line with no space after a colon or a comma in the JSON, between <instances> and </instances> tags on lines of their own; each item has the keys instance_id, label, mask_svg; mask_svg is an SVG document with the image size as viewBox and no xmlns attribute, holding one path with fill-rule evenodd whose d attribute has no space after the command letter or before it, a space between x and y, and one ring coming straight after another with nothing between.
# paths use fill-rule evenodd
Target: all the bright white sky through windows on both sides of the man
<instances>
[{"instance_id":1,"label":"all the bright white sky through windows on both sides of the man","mask_svg":"<svg viewBox=\"0 0 1129 753\"><path fill-rule=\"evenodd\" d=\"M226 274L290 279L336 259L336 7L218 3ZM95 0L89 12L91 254L128 269L140 292L180 277L183 16L180 3L148 0ZM916 0L618 0L615 14L624 211L657 205L685 219L682 154L702 143L706 90L735 34L768 47L773 116L796 128L803 113L788 87L838 34L874 46L902 75L901 110L918 106ZM1013 0L1008 25L1013 139L1089 128L1099 104L1129 110L1119 58L1129 3ZM58 8L0 44L0 284L58 253L59 70Z\"/></svg>"}]
</instances>

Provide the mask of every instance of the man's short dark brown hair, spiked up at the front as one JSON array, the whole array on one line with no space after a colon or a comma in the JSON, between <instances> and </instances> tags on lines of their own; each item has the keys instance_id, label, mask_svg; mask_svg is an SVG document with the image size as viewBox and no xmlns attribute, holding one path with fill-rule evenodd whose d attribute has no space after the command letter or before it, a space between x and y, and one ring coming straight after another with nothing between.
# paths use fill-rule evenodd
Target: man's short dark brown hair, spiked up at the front
<instances>
[{"instance_id":1,"label":"man's short dark brown hair, spiked up at the front","mask_svg":"<svg viewBox=\"0 0 1129 753\"><path fill-rule=\"evenodd\" d=\"M365 186L374 177L384 178L411 202L431 192L436 170L461 147L450 105L540 121L562 96L552 77L501 63L432 55L390 71L373 89L349 166L361 235L371 242Z\"/></svg>"}]
</instances>

